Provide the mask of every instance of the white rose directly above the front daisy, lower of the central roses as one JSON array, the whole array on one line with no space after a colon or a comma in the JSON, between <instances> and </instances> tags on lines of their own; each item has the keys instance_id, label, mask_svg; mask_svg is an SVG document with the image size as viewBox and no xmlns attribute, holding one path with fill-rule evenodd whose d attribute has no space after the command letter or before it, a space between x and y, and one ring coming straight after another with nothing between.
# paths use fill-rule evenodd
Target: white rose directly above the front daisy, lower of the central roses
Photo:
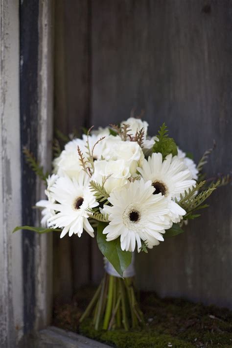
<instances>
[{"instance_id":1,"label":"white rose directly above the front daisy, lower of the central roses","mask_svg":"<svg viewBox=\"0 0 232 348\"><path fill-rule=\"evenodd\" d=\"M92 179L102 184L102 181L107 178L104 188L108 193L111 193L118 187L126 185L128 177L130 177L130 171L124 160L101 160L94 162L94 174Z\"/></svg>"}]
</instances>

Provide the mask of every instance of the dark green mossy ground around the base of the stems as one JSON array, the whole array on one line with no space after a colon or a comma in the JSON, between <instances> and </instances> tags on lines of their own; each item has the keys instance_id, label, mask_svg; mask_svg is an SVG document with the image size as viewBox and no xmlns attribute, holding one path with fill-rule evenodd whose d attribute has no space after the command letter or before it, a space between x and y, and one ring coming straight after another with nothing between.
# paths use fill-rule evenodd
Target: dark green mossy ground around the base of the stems
<instances>
[{"instance_id":1,"label":"dark green mossy ground around the base of the stems","mask_svg":"<svg viewBox=\"0 0 232 348\"><path fill-rule=\"evenodd\" d=\"M146 325L140 330L95 331L89 320L79 325L94 290L82 288L71 303L56 305L54 325L120 348L232 348L232 311L184 299L161 299L153 293L141 293Z\"/></svg>"}]
</instances>

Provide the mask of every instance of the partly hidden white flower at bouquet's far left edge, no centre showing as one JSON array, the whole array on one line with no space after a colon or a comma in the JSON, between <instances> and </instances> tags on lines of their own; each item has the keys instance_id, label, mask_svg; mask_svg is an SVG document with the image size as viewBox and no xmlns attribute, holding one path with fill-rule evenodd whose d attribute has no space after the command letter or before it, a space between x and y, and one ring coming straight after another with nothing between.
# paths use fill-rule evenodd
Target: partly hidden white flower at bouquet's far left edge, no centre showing
<instances>
[{"instance_id":1,"label":"partly hidden white flower at bouquet's far left edge, no centre showing","mask_svg":"<svg viewBox=\"0 0 232 348\"><path fill-rule=\"evenodd\" d=\"M51 196L50 188L52 187L52 185L54 185L54 183L56 182L57 179L58 179L58 175L56 175L56 174L52 174L52 175L48 176L48 178L46 179L47 188L45 190L45 194L46 194L48 200L41 199L39 202L36 203L37 207L44 208L41 212L41 214L42 214L42 219L41 219L42 227L47 227L47 220L49 218L51 218L53 215L55 215L54 210L51 209L51 207L50 207L50 203L55 202L55 200Z\"/></svg>"}]
</instances>

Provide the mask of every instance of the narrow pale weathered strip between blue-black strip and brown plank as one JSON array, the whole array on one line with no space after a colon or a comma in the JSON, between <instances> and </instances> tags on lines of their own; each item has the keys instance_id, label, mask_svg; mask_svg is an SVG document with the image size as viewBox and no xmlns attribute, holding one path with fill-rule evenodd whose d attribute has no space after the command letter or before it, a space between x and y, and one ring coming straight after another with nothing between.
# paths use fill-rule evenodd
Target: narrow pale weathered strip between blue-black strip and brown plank
<instances>
[{"instance_id":1,"label":"narrow pale weathered strip between blue-black strip and brown plank","mask_svg":"<svg viewBox=\"0 0 232 348\"><path fill-rule=\"evenodd\" d=\"M38 64L38 159L45 170L50 170L53 122L53 2L39 4L39 64ZM44 197L44 185L37 182L37 198ZM39 222L38 222L39 224ZM52 309L52 235L36 238L37 309L36 327L45 327L51 320Z\"/></svg>"}]
</instances>

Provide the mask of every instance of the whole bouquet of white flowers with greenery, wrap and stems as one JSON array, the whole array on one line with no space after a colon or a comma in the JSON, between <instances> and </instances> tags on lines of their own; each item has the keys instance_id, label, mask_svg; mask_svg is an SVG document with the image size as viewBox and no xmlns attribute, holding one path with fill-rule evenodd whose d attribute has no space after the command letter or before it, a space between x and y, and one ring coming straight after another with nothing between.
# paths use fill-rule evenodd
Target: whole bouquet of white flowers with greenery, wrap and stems
<instances>
[{"instance_id":1,"label":"whole bouquet of white flowers with greenery, wrap and stems","mask_svg":"<svg viewBox=\"0 0 232 348\"><path fill-rule=\"evenodd\" d=\"M156 136L148 124L129 118L119 125L89 129L71 137L43 174L25 150L34 170L46 181L39 233L60 231L60 238L94 237L105 258L105 275L81 320L92 315L95 329L136 327L143 316L135 296L134 251L147 252L165 238L183 232L220 181L201 181L210 151L198 166L168 137L163 124ZM57 147L58 149L58 147ZM221 183L225 183L223 179Z\"/></svg>"}]
</instances>

